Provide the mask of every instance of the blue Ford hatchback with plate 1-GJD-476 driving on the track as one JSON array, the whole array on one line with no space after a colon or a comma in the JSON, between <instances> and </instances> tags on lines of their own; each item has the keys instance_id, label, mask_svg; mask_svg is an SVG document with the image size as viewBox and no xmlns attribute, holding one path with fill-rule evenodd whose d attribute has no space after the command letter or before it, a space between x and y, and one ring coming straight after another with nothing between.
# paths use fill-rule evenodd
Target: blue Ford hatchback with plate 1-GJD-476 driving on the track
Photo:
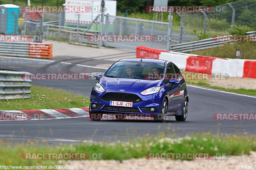
<instances>
[{"instance_id":1,"label":"blue Ford hatchback with plate 1-GJD-476 driving on the track","mask_svg":"<svg viewBox=\"0 0 256 170\"><path fill-rule=\"evenodd\" d=\"M99 121L103 114L154 117L164 122L167 116L185 121L188 90L179 68L170 61L126 58L114 63L93 86L89 115Z\"/></svg>"}]
</instances>

